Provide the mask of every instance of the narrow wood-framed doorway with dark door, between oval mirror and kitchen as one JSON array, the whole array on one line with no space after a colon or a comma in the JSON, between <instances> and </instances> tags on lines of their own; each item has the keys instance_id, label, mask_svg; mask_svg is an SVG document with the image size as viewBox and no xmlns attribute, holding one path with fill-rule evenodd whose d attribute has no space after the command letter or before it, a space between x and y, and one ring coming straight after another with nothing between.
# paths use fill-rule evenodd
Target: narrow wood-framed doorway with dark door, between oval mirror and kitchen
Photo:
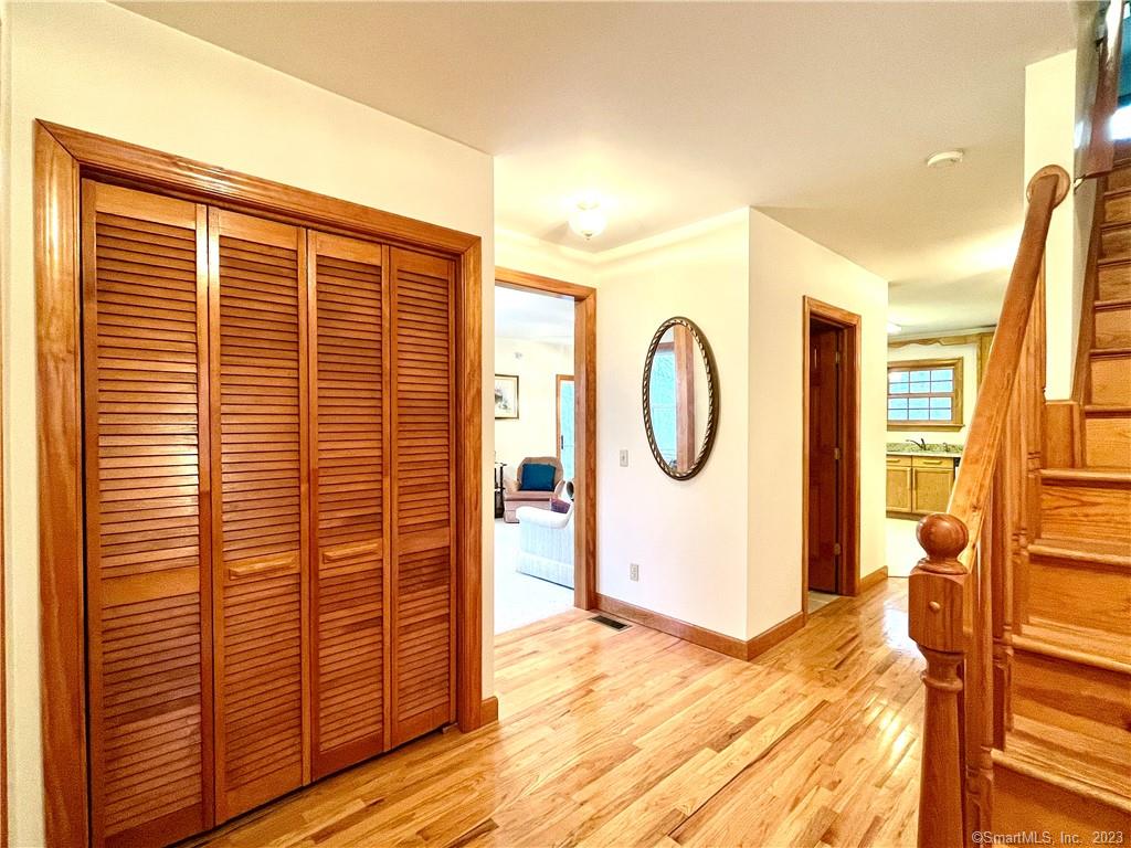
<instances>
[{"instance_id":1,"label":"narrow wood-framed doorway with dark door, between oval mirror and kitchen","mask_svg":"<svg viewBox=\"0 0 1131 848\"><path fill-rule=\"evenodd\" d=\"M804 300L802 611L860 590L860 315Z\"/></svg>"}]
</instances>

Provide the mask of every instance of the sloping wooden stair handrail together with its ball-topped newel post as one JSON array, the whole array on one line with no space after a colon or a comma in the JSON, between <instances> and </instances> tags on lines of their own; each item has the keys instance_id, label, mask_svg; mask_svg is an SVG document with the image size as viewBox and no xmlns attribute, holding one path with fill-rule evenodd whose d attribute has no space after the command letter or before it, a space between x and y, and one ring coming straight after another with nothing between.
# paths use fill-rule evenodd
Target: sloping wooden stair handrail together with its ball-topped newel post
<instances>
[{"instance_id":1,"label":"sloping wooden stair handrail together with its ball-topped newel post","mask_svg":"<svg viewBox=\"0 0 1131 848\"><path fill-rule=\"evenodd\" d=\"M991 503L998 457L1002 452L1015 378L1022 366L1030 318L1035 313L1053 210L1068 196L1071 179L1059 165L1037 171L1027 189L1025 227L1010 274L998 329L985 365L955 488L946 513L920 521L916 535L926 556L908 580L908 631L926 669L922 776L920 781L920 848L960 848L970 842L966 814L966 742L962 736L964 680L981 680L982 668L964 669L968 626L964 609L975 587L967 586L976 546ZM1042 311L1043 314L1043 311ZM1042 334L1043 335L1043 334ZM1044 356L1043 338L1041 356ZM1033 339L1029 339L1031 346ZM982 576L979 576L979 580ZM975 602L977 603L977 602ZM987 612L981 611L984 621ZM987 647L977 646L979 663ZM965 670L965 674L964 674ZM977 674L972 674L977 672ZM969 720L975 720L969 717ZM981 720L981 719L978 719Z\"/></svg>"}]
</instances>

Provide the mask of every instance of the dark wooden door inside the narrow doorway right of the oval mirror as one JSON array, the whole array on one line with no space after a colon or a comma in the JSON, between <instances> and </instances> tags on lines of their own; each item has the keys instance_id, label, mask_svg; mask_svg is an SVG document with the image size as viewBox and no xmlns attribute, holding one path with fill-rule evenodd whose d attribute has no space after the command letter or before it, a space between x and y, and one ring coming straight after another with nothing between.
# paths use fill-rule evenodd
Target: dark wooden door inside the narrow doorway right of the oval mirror
<instances>
[{"instance_id":1,"label":"dark wooden door inside the narrow doorway right of the oval mirror","mask_svg":"<svg viewBox=\"0 0 1131 848\"><path fill-rule=\"evenodd\" d=\"M843 330L812 321L809 337L809 588L837 592L839 569L839 348Z\"/></svg>"}]
</instances>

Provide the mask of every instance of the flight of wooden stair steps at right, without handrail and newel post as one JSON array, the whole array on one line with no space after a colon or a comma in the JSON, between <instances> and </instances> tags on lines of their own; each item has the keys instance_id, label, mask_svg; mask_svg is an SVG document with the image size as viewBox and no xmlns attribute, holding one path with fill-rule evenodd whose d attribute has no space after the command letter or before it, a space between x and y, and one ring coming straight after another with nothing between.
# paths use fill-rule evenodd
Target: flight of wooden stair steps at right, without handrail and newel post
<instances>
[{"instance_id":1,"label":"flight of wooden stair steps at right, without handrail and newel post","mask_svg":"<svg viewBox=\"0 0 1131 848\"><path fill-rule=\"evenodd\" d=\"M994 831L1131 838L1131 157L1097 184L1076 399L1046 415L1018 557ZM1062 413L1064 410L1061 410ZM1082 423L1082 426L1081 426Z\"/></svg>"}]
</instances>

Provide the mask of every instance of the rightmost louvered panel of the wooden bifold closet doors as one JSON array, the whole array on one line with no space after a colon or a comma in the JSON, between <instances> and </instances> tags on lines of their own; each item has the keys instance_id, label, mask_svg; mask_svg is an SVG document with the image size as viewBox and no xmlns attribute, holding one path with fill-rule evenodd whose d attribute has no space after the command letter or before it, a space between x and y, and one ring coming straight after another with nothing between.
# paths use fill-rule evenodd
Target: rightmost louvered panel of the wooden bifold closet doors
<instances>
[{"instance_id":1,"label":"rightmost louvered panel of the wooden bifold closet doors","mask_svg":"<svg viewBox=\"0 0 1131 848\"><path fill-rule=\"evenodd\" d=\"M454 263L394 249L392 744L455 719Z\"/></svg>"}]
</instances>

